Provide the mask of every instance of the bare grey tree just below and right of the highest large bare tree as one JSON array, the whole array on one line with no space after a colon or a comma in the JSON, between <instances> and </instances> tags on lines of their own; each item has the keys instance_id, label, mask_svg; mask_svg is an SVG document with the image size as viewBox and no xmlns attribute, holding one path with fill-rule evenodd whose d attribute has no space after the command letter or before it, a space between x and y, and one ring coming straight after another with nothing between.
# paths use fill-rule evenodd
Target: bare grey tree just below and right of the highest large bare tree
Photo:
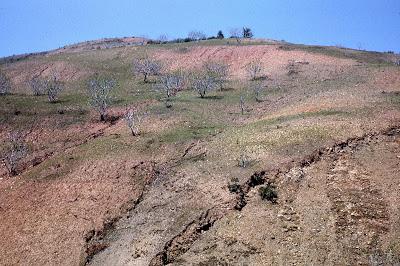
<instances>
[{"instance_id":1,"label":"bare grey tree just below and right of the highest large bare tree","mask_svg":"<svg viewBox=\"0 0 400 266\"><path fill-rule=\"evenodd\" d=\"M172 107L171 98L184 87L184 75L177 71L174 73L165 73L160 76L160 82L157 84L157 89L165 95L165 106Z\"/></svg>"}]
</instances>

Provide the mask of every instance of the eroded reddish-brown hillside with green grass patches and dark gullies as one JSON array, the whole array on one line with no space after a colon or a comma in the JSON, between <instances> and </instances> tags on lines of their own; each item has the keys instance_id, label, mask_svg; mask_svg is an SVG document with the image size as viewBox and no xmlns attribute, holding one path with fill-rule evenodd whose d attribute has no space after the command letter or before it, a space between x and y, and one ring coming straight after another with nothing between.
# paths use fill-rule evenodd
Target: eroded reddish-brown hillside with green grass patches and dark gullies
<instances>
[{"instance_id":1,"label":"eroded reddish-brown hillside with green grass patches and dark gullies","mask_svg":"<svg viewBox=\"0 0 400 266\"><path fill-rule=\"evenodd\" d=\"M18 175L0 168L0 265L399 263L397 55L136 41L2 61L13 91L0 96L0 151L29 134ZM186 85L167 108L158 77L132 73L144 56L185 74L223 62L229 78L204 98ZM257 60L261 99L246 71ZM53 73L64 90L49 103L27 82ZM105 122L88 104L95 73L118 83ZM143 114L138 136L127 106Z\"/></svg>"}]
</instances>

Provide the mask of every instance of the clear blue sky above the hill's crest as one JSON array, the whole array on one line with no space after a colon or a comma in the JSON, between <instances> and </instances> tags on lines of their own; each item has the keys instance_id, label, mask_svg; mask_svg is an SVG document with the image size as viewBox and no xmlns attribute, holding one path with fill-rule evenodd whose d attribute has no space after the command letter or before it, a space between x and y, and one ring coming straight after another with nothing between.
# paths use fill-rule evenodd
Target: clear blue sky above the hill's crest
<instances>
[{"instance_id":1,"label":"clear blue sky above the hill's crest","mask_svg":"<svg viewBox=\"0 0 400 266\"><path fill-rule=\"evenodd\" d=\"M1 0L0 56L241 26L255 37L400 52L400 0Z\"/></svg>"}]
</instances>

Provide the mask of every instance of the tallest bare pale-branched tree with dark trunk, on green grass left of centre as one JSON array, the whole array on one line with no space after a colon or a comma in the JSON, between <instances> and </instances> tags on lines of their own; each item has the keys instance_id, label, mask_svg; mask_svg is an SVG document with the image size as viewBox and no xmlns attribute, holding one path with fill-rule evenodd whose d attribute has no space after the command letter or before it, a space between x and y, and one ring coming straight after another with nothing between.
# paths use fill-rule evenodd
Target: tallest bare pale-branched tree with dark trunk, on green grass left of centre
<instances>
[{"instance_id":1,"label":"tallest bare pale-branched tree with dark trunk, on green grass left of centre","mask_svg":"<svg viewBox=\"0 0 400 266\"><path fill-rule=\"evenodd\" d=\"M111 91L116 86L115 79L96 74L89 80L88 92L90 105L100 114L100 120L105 121L109 105L111 104Z\"/></svg>"}]
</instances>

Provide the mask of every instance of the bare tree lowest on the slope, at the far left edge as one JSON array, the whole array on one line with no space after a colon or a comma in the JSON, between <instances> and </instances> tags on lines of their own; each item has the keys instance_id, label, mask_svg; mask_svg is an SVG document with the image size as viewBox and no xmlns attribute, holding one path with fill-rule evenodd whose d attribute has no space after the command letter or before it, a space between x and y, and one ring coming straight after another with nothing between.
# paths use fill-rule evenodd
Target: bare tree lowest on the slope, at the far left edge
<instances>
[{"instance_id":1,"label":"bare tree lowest on the slope, at the far left edge","mask_svg":"<svg viewBox=\"0 0 400 266\"><path fill-rule=\"evenodd\" d=\"M8 135L6 152L2 161L10 176L17 175L18 164L28 153L28 148L25 144L25 137L26 135L23 135L18 131L11 132Z\"/></svg>"}]
</instances>

